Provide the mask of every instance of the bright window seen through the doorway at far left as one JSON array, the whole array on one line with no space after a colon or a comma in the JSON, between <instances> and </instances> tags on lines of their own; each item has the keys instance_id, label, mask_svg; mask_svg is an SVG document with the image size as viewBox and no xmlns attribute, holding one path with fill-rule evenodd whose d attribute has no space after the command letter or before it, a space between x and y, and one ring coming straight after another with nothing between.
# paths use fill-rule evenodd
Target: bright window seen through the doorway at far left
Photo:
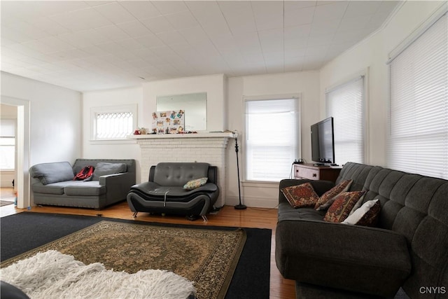
<instances>
[{"instance_id":1,"label":"bright window seen through the doorway at far left","mask_svg":"<svg viewBox=\"0 0 448 299\"><path fill-rule=\"evenodd\" d=\"M15 169L15 122L1 120L0 127L0 169Z\"/></svg>"}]
</instances>

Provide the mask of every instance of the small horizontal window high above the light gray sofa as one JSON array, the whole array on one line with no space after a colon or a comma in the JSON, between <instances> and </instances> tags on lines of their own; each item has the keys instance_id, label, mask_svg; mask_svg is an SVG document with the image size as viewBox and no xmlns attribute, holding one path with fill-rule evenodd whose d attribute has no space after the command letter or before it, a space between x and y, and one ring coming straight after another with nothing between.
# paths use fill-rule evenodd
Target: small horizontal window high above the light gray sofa
<instances>
[{"instance_id":1,"label":"small horizontal window high above the light gray sofa","mask_svg":"<svg viewBox=\"0 0 448 299\"><path fill-rule=\"evenodd\" d=\"M92 108L92 139L125 139L137 129L137 105Z\"/></svg>"}]
</instances>

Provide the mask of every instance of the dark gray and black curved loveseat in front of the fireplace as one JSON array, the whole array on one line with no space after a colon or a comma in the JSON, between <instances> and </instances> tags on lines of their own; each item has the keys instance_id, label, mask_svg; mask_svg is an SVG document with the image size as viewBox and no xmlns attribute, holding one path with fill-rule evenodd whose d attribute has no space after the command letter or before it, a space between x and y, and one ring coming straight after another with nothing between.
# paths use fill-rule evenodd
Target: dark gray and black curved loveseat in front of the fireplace
<instances>
[{"instance_id":1,"label":"dark gray and black curved loveseat in front of the fireplace","mask_svg":"<svg viewBox=\"0 0 448 299\"><path fill-rule=\"evenodd\" d=\"M188 181L207 178L207 183L192 190L183 186ZM134 217L139 211L185 215L190 220L213 208L219 195L218 168L203 162L161 162L150 168L147 182L132 186L127 203Z\"/></svg>"}]
</instances>

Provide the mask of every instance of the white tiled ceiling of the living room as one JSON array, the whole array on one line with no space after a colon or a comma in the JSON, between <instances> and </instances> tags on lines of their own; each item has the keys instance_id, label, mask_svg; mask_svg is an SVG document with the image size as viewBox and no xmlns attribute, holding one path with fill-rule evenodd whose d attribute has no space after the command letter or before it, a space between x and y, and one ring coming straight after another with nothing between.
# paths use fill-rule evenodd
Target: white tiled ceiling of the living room
<instances>
[{"instance_id":1,"label":"white tiled ceiling of the living room","mask_svg":"<svg viewBox=\"0 0 448 299\"><path fill-rule=\"evenodd\" d=\"M1 1L1 71L88 91L320 69L400 1Z\"/></svg>"}]
</instances>

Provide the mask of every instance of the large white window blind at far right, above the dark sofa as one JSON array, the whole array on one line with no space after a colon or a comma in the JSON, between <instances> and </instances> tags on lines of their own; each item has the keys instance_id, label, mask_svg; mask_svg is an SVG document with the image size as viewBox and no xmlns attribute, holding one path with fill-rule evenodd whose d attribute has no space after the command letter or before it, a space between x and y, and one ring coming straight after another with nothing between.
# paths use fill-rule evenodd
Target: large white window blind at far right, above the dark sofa
<instances>
[{"instance_id":1,"label":"large white window blind at far right, above the dark sofa","mask_svg":"<svg viewBox=\"0 0 448 299\"><path fill-rule=\"evenodd\" d=\"M388 167L448 179L447 14L391 60Z\"/></svg>"}]
</instances>

